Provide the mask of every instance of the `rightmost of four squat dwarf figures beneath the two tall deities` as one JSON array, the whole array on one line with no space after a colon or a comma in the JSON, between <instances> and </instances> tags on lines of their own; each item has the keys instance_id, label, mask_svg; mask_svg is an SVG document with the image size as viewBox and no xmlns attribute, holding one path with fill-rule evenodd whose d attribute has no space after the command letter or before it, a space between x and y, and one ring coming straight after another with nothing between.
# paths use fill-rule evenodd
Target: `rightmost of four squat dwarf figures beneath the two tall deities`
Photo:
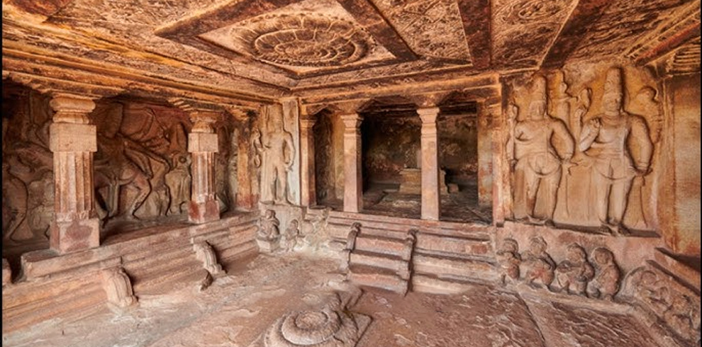
<instances>
[{"instance_id":1,"label":"rightmost of four squat dwarf figures beneath the two tall deities","mask_svg":"<svg viewBox=\"0 0 702 347\"><path fill-rule=\"evenodd\" d=\"M603 300L613 300L619 292L621 271L614 261L614 254L609 249L598 247L590 256L595 266L595 277L588 285L587 292L590 297Z\"/></svg>"}]
</instances>

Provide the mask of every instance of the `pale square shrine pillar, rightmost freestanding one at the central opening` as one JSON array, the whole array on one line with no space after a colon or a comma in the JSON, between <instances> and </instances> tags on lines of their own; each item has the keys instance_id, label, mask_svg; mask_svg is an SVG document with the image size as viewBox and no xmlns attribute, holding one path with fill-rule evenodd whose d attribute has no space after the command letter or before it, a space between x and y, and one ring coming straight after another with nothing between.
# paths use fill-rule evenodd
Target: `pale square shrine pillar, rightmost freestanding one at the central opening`
<instances>
[{"instance_id":1,"label":"pale square shrine pillar, rightmost freestanding one at the central opening","mask_svg":"<svg viewBox=\"0 0 702 347\"><path fill-rule=\"evenodd\" d=\"M441 198L439 194L439 156L436 118L439 108L420 108L422 119L422 219L439 220Z\"/></svg>"}]
</instances>

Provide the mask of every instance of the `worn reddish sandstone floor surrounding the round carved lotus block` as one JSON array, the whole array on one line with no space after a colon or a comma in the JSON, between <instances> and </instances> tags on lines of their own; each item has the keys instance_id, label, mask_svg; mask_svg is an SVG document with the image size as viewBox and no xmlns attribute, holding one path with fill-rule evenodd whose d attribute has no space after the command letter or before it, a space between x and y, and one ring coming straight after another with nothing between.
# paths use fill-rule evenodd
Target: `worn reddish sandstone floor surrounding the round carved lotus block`
<instances>
[{"instance_id":1,"label":"worn reddish sandstone floor surrounding the round carved lotus block","mask_svg":"<svg viewBox=\"0 0 702 347\"><path fill-rule=\"evenodd\" d=\"M126 312L45 322L4 334L2 344L248 347L275 319L340 280L336 269L328 258L257 256L203 292L191 283L142 295ZM630 314L574 302L474 285L461 295L364 290L352 311L372 317L360 347L657 346Z\"/></svg>"}]
</instances>

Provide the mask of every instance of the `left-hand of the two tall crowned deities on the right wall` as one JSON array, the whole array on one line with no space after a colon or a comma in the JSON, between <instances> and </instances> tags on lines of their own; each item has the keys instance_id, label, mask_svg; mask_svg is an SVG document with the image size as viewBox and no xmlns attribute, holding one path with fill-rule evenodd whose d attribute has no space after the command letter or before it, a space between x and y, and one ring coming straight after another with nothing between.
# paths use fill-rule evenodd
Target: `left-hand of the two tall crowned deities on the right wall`
<instances>
[{"instance_id":1,"label":"left-hand of the two tall crowned deities on the right wall","mask_svg":"<svg viewBox=\"0 0 702 347\"><path fill-rule=\"evenodd\" d=\"M569 161L573 157L574 141L562 120L552 118L546 112L545 77L535 78L534 91L533 100L529 104L528 118L520 122L511 121L514 124L514 130L511 130L513 143L508 144L508 147L514 147L513 151L508 149L508 152L513 152L512 164L518 182L516 188L525 195L528 222L552 226L561 181L561 166L571 165ZM516 108L511 110L510 114L516 118ZM554 146L554 140L564 144L562 154L559 154ZM534 212L539 190L546 190L545 218L536 217Z\"/></svg>"}]
</instances>

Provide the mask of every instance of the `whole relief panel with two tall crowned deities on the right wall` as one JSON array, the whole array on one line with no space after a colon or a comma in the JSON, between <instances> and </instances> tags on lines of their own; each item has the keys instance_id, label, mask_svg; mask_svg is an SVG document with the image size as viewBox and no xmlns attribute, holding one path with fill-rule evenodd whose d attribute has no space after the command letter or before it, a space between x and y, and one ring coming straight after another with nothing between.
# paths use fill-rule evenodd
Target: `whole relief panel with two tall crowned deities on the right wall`
<instances>
[{"instance_id":1,"label":"whole relief panel with two tall crowned deities on the right wall","mask_svg":"<svg viewBox=\"0 0 702 347\"><path fill-rule=\"evenodd\" d=\"M506 152L513 168L515 219L598 227L603 234L628 234L625 223L651 227L646 220L651 206L645 203L651 192L636 178L652 172L651 135L657 141L662 127L655 89L638 89L627 106L641 114L635 115L625 110L623 69L611 67L603 76L576 81L576 96L565 79L563 72L555 74L547 98L547 79L536 76L530 89L516 89L519 102L508 106ZM586 84L601 87L594 91ZM528 105L528 112L520 115L518 104ZM630 194L633 187L636 194Z\"/></svg>"}]
</instances>

